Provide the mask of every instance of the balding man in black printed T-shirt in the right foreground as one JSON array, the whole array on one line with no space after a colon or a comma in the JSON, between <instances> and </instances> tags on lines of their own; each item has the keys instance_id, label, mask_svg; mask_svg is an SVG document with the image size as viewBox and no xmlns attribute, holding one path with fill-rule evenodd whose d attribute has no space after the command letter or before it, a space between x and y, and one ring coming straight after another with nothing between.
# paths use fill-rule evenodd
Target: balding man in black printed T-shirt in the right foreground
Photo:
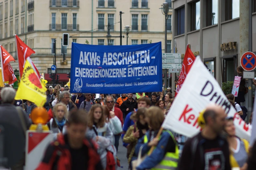
<instances>
[{"instance_id":1,"label":"balding man in black printed T-shirt in the right foreground","mask_svg":"<svg viewBox=\"0 0 256 170\"><path fill-rule=\"evenodd\" d=\"M202 131L186 141L178 170L231 170L229 145L220 135L225 118L225 111L220 106L206 107L198 118Z\"/></svg>"}]
</instances>

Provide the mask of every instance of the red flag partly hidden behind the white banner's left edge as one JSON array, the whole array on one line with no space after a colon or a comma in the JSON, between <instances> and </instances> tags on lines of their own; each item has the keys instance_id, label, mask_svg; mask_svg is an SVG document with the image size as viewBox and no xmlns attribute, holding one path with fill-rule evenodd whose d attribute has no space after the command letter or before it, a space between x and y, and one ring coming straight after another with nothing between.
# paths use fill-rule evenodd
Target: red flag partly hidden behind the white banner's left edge
<instances>
[{"instance_id":1,"label":"red flag partly hidden behind the white banner's left edge","mask_svg":"<svg viewBox=\"0 0 256 170\"><path fill-rule=\"evenodd\" d=\"M176 88L176 93L175 93L175 97L177 96L190 68L192 67L194 61L195 61L196 57L195 55L192 53L192 51L190 50L190 48L187 45L187 49L185 52L185 56L184 56L184 60L182 63L182 68L181 68L181 73L179 76L179 81L178 81L178 85Z\"/></svg>"}]
</instances>

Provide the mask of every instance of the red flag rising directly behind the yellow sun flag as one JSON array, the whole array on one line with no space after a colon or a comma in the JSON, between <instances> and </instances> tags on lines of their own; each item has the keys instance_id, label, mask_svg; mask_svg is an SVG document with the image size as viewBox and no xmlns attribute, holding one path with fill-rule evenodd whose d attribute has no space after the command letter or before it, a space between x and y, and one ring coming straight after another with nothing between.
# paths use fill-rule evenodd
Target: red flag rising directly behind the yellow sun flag
<instances>
[{"instance_id":1,"label":"red flag rising directly behind the yellow sun flag","mask_svg":"<svg viewBox=\"0 0 256 170\"><path fill-rule=\"evenodd\" d=\"M36 52L29 48L16 34L15 34L15 42L16 42L16 48L18 53L18 64L19 64L19 70L20 70L20 77L22 77L23 69L27 60L27 57L29 57L31 54L35 54ZM33 63L33 62L32 62ZM33 63L33 66L36 69L36 72L39 74L39 71L37 70L36 66Z\"/></svg>"}]
</instances>

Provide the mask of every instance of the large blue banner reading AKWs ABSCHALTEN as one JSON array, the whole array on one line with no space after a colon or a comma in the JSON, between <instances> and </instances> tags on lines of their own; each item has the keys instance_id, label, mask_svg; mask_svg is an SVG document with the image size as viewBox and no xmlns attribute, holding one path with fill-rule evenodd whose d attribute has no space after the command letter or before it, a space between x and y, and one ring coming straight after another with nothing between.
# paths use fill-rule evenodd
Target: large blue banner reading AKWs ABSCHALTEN
<instances>
[{"instance_id":1,"label":"large blue banner reading AKWs ABSCHALTEN","mask_svg":"<svg viewBox=\"0 0 256 170\"><path fill-rule=\"evenodd\" d=\"M72 43L70 76L72 93L162 91L161 42L123 46Z\"/></svg>"}]
</instances>

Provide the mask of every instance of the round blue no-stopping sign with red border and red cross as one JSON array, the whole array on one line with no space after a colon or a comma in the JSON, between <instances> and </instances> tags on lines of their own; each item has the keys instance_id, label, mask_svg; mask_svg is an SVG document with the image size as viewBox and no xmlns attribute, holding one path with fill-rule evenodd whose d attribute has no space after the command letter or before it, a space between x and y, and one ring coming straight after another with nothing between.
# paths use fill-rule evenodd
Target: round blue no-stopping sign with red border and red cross
<instances>
[{"instance_id":1,"label":"round blue no-stopping sign with red border and red cross","mask_svg":"<svg viewBox=\"0 0 256 170\"><path fill-rule=\"evenodd\" d=\"M246 52L242 55L240 62L244 70L254 70L256 68L256 55L252 52Z\"/></svg>"}]
</instances>

